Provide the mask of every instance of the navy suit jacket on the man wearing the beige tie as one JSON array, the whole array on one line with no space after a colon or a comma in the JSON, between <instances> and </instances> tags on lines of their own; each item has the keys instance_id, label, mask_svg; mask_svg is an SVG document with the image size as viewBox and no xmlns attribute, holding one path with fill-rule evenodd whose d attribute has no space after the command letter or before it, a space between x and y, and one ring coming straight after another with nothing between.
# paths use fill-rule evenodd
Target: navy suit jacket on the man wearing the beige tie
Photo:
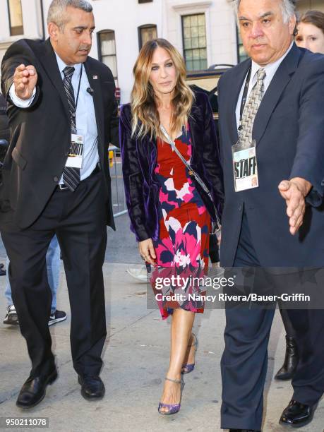
<instances>
[{"instance_id":1,"label":"navy suit jacket on the man wearing the beige tie","mask_svg":"<svg viewBox=\"0 0 324 432\"><path fill-rule=\"evenodd\" d=\"M324 213L324 56L294 46L280 64L253 125L258 160L258 188L236 193L232 145L238 140L235 109L246 60L227 71L219 83L220 148L225 204L221 263L232 266L245 211L253 246L263 266L323 266ZM287 206L278 185L302 177L311 182L304 224L289 234Z\"/></svg>"}]
</instances>

